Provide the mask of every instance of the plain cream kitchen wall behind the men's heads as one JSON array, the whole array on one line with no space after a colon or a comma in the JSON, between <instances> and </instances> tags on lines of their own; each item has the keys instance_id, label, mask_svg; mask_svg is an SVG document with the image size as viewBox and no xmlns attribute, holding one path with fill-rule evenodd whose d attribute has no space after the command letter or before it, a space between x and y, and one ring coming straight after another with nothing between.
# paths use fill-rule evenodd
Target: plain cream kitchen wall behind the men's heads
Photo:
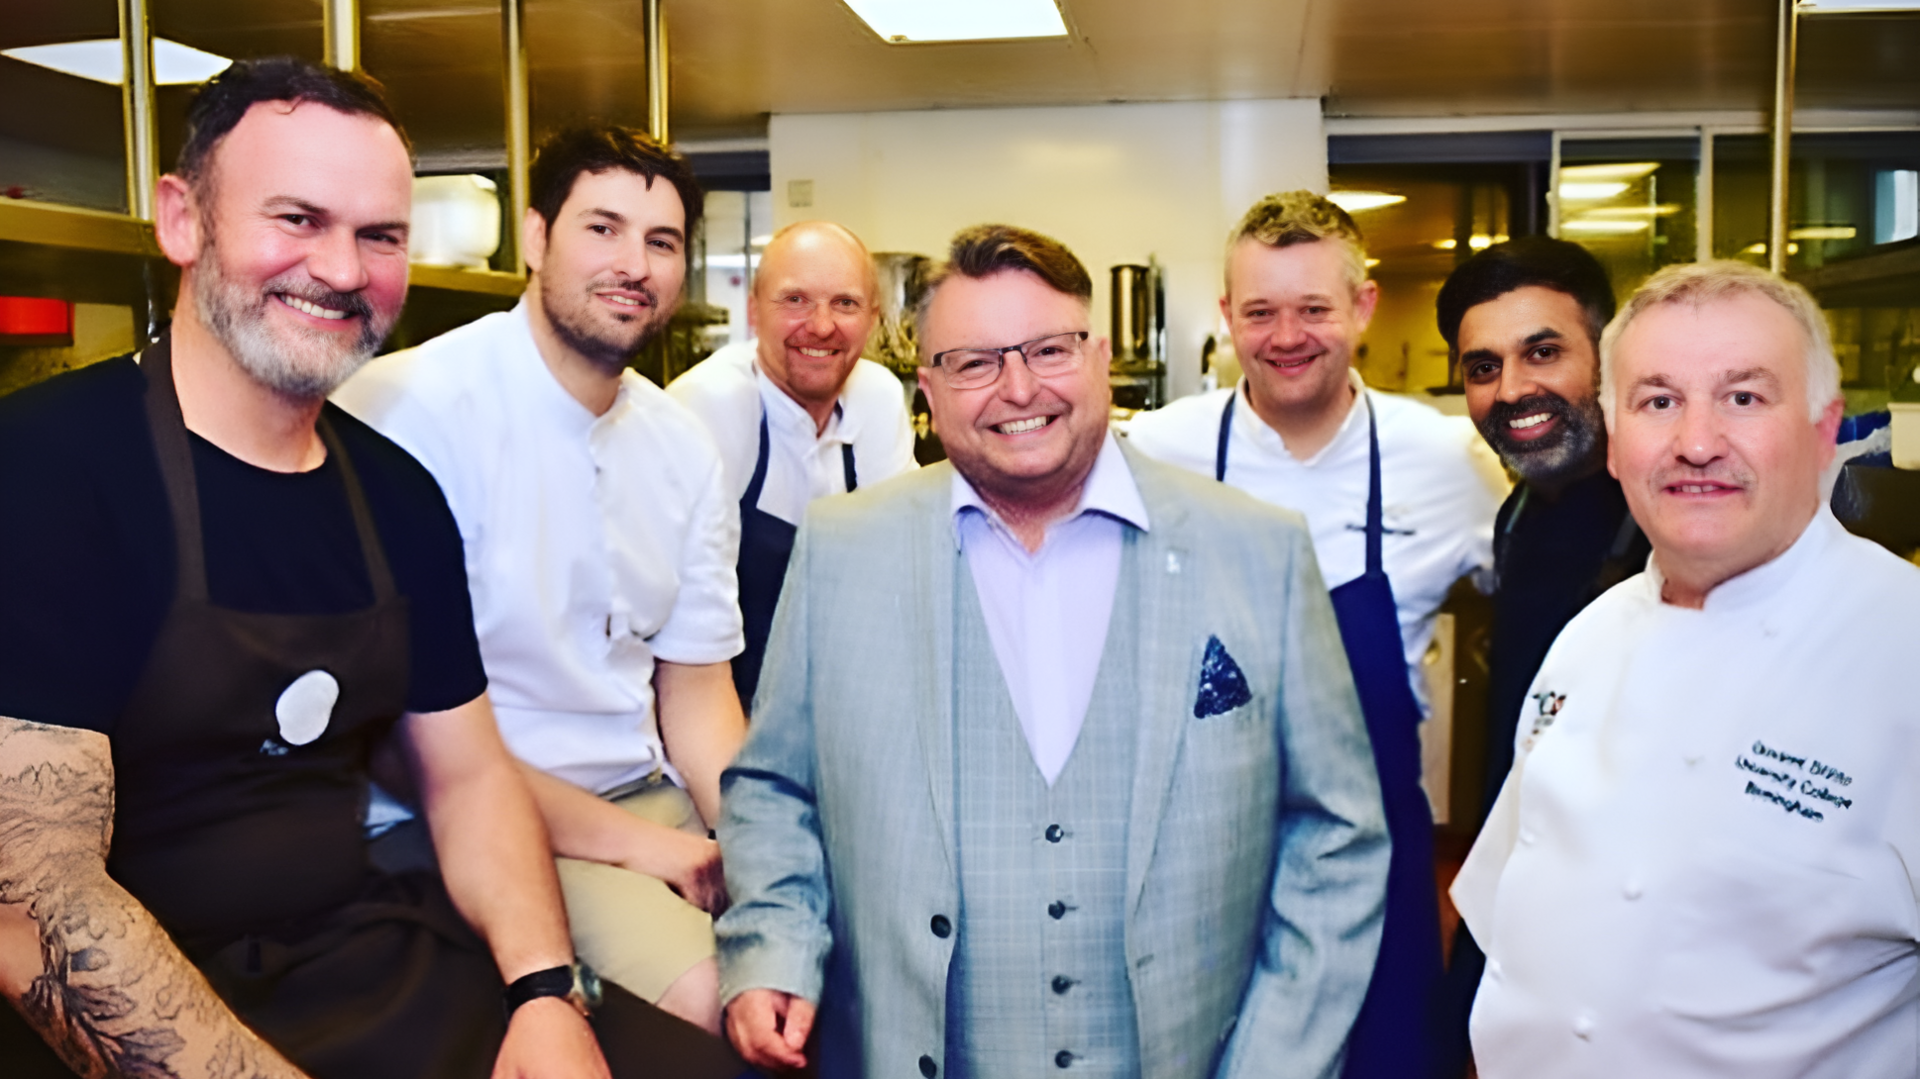
<instances>
[{"instance_id":1,"label":"plain cream kitchen wall behind the men's heads","mask_svg":"<svg viewBox=\"0 0 1920 1079\"><path fill-rule=\"evenodd\" d=\"M1227 230L1267 192L1327 190L1319 100L776 115L768 146L776 227L935 257L966 225L1037 228L1087 263L1100 332L1108 267L1156 255L1175 397L1200 386Z\"/></svg>"}]
</instances>

